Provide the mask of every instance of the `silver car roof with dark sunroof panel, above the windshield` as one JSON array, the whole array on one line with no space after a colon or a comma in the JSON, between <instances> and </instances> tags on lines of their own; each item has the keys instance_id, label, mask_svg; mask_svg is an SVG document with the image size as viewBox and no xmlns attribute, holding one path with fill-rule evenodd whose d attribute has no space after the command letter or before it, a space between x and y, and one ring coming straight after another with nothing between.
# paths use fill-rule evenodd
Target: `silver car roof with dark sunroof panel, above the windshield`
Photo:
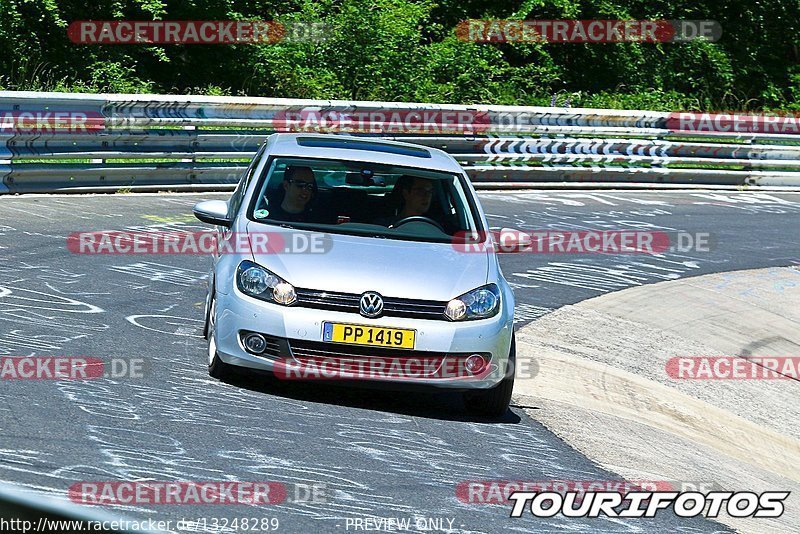
<instances>
[{"instance_id":1,"label":"silver car roof with dark sunroof panel, above the windshield","mask_svg":"<svg viewBox=\"0 0 800 534\"><path fill-rule=\"evenodd\" d=\"M351 135L277 133L269 138L273 156L317 157L344 161L382 163L461 173L459 164L436 149Z\"/></svg>"}]
</instances>

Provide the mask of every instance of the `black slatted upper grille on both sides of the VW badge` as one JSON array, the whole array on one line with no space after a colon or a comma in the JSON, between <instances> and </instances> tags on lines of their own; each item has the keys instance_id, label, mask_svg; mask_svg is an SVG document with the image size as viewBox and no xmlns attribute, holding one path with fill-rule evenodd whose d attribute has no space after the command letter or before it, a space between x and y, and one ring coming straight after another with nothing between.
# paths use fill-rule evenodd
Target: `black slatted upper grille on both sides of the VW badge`
<instances>
[{"instance_id":1,"label":"black slatted upper grille on both sides of the VW badge","mask_svg":"<svg viewBox=\"0 0 800 534\"><path fill-rule=\"evenodd\" d=\"M360 313L359 302L361 295L336 291L318 291L315 289L296 289L296 291L297 303L295 306ZM446 307L446 302L436 300L383 297L382 316L446 321L447 318L444 315Z\"/></svg>"}]
</instances>

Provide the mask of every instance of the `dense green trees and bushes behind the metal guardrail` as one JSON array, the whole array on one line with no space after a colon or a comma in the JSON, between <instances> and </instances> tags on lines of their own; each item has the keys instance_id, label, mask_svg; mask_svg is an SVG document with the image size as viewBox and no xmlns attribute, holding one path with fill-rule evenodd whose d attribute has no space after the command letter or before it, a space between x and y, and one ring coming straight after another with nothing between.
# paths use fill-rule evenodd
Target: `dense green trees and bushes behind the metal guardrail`
<instances>
[{"instance_id":1,"label":"dense green trees and bushes behind the metal guardrail","mask_svg":"<svg viewBox=\"0 0 800 534\"><path fill-rule=\"evenodd\" d=\"M465 19L716 20L718 42L480 44ZM321 42L77 45L78 20L321 22ZM0 0L0 89L647 109L800 109L800 3Z\"/></svg>"}]
</instances>

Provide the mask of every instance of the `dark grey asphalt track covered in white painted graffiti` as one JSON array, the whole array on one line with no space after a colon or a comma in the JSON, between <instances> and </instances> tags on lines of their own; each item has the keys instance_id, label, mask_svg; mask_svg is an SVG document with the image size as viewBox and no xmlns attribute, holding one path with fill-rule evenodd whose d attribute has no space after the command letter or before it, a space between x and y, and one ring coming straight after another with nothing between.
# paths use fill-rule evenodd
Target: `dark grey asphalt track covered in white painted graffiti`
<instances>
[{"instance_id":1,"label":"dark grey asphalt track covered in white painted graffiti","mask_svg":"<svg viewBox=\"0 0 800 534\"><path fill-rule=\"evenodd\" d=\"M457 395L210 379L201 337L208 259L76 255L71 232L203 229L205 195L0 198L0 355L141 358L141 379L0 386L0 481L65 498L78 481L324 485L326 502L108 507L134 518L277 518L282 532L346 532L365 517L434 518L453 531L727 532L718 523L509 519L462 503L468 480L617 479L519 407L469 419ZM710 234L710 251L503 255L518 323L632 285L800 262L800 195L734 192L485 193L492 226ZM414 523L412 523L414 525ZM412 531L424 531L419 523ZM354 531L353 527L349 528ZM233 531L233 530L231 530Z\"/></svg>"}]
</instances>

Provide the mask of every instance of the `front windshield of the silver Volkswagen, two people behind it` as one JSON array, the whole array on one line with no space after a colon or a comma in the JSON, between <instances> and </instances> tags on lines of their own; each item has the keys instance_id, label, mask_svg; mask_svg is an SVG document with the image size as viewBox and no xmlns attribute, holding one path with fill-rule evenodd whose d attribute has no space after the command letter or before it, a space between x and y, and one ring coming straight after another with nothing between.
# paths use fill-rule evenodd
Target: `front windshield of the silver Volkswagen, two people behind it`
<instances>
[{"instance_id":1,"label":"front windshield of the silver Volkswagen, two people behind it","mask_svg":"<svg viewBox=\"0 0 800 534\"><path fill-rule=\"evenodd\" d=\"M314 158L274 158L248 218L380 238L452 241L481 230L460 175Z\"/></svg>"}]
</instances>

